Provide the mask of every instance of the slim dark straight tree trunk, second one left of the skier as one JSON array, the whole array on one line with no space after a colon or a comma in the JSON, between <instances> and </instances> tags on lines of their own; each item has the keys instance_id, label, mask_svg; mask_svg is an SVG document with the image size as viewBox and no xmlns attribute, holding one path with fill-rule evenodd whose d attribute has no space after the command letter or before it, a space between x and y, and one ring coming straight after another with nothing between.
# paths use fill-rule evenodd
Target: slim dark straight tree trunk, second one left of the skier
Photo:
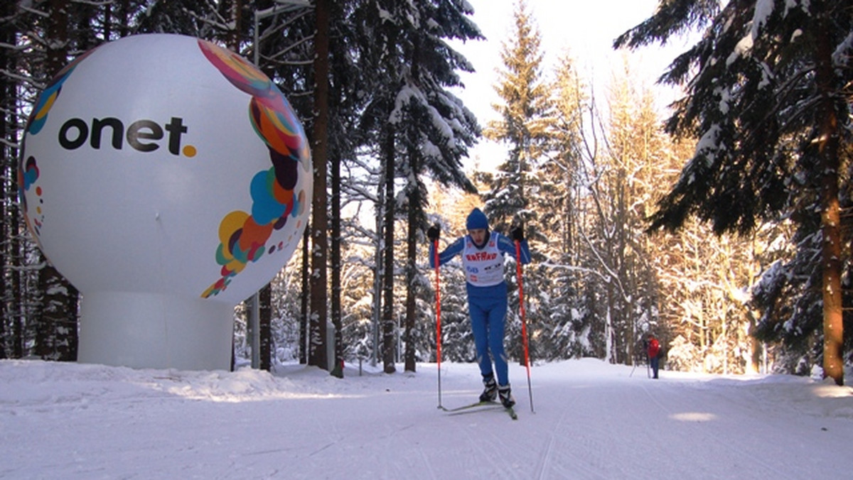
<instances>
[{"instance_id":1,"label":"slim dark straight tree trunk, second one left of the skier","mask_svg":"<svg viewBox=\"0 0 853 480\"><path fill-rule=\"evenodd\" d=\"M394 325L394 129L386 126L385 145L382 156L385 158L385 265L382 274L382 364L385 373L394 373L394 350L396 342L394 335L397 326Z\"/></svg>"}]
</instances>

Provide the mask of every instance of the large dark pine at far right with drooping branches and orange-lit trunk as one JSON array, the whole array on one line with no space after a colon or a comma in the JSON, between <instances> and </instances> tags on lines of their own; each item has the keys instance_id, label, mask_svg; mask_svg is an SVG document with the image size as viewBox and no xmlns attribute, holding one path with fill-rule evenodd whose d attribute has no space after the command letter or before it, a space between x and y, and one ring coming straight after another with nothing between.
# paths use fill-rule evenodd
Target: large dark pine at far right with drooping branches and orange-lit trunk
<instances>
[{"instance_id":1,"label":"large dark pine at far right with drooping branches and orange-lit trunk","mask_svg":"<svg viewBox=\"0 0 853 480\"><path fill-rule=\"evenodd\" d=\"M652 228L678 228L695 214L717 233L746 233L760 220L814 205L821 212L823 367L842 385L839 191L846 185L839 188L839 167L850 143L842 128L851 113L850 6L740 1L719 9L717 2L680 0L662 4L615 44L665 41L691 26L707 26L705 37L663 79L688 86L667 130L700 141ZM805 334L814 327L798 325Z\"/></svg>"}]
</instances>

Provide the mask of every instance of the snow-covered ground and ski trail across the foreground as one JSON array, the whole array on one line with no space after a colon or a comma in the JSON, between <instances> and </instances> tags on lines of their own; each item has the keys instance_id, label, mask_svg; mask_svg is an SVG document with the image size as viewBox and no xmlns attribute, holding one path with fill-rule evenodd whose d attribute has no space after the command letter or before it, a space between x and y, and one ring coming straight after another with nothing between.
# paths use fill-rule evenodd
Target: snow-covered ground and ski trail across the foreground
<instances>
[{"instance_id":1,"label":"snow-covered ground and ski trail across the foreground","mask_svg":"<svg viewBox=\"0 0 853 480\"><path fill-rule=\"evenodd\" d=\"M563 361L511 366L519 420L417 373L0 361L3 478L842 478L853 389ZM442 365L444 407L479 373Z\"/></svg>"}]
</instances>

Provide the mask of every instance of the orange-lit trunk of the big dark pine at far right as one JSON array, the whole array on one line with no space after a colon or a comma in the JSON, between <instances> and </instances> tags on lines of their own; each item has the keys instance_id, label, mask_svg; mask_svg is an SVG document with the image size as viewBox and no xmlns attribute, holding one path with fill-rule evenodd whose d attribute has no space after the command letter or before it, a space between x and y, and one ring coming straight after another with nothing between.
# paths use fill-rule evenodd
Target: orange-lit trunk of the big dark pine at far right
<instances>
[{"instance_id":1,"label":"orange-lit trunk of the big dark pine at far right","mask_svg":"<svg viewBox=\"0 0 853 480\"><path fill-rule=\"evenodd\" d=\"M833 100L833 45L827 14L821 14L815 51L817 106L817 155L821 167L821 231L823 233L823 372L844 385L844 324L841 316L841 230L838 207L838 118Z\"/></svg>"}]
</instances>

